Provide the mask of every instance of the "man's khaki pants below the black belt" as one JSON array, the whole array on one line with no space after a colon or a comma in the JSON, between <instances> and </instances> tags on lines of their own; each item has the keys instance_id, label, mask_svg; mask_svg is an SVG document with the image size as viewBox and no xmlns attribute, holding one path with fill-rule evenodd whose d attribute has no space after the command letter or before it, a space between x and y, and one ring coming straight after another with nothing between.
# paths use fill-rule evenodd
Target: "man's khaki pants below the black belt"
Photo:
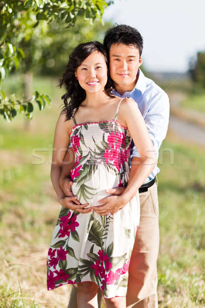
<instances>
[{"instance_id":1,"label":"man's khaki pants below the black belt","mask_svg":"<svg viewBox=\"0 0 205 308\"><path fill-rule=\"evenodd\" d=\"M127 308L156 308L159 223L157 183L139 194L140 221L130 260ZM68 308L77 308L73 287Z\"/></svg>"}]
</instances>

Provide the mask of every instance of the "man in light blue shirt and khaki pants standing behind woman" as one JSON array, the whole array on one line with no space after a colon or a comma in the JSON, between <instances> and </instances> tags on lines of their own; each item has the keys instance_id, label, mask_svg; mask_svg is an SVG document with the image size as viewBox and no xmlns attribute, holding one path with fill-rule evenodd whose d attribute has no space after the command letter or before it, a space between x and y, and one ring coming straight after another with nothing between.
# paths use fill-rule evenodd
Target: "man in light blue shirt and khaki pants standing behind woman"
<instances>
[{"instance_id":1,"label":"man in light blue shirt and khaki pants standing behind woman","mask_svg":"<svg viewBox=\"0 0 205 308\"><path fill-rule=\"evenodd\" d=\"M139 66L142 63L143 40L140 33L127 25L109 29L104 45L109 53L110 75L114 83L113 94L131 97L145 119L151 140L158 157L159 147L166 137L169 122L169 98L152 80L145 77ZM135 147L131 152L131 173L136 171L140 160ZM65 161L69 160L68 157ZM71 196L72 182L68 175L68 165L63 166L60 186L67 196ZM155 167L145 184L139 188L140 222L129 266L127 308L155 308L157 304L157 256L159 249L158 197ZM120 195L123 187L107 190L109 194ZM76 295L72 291L69 308L76 308Z\"/></svg>"}]
</instances>

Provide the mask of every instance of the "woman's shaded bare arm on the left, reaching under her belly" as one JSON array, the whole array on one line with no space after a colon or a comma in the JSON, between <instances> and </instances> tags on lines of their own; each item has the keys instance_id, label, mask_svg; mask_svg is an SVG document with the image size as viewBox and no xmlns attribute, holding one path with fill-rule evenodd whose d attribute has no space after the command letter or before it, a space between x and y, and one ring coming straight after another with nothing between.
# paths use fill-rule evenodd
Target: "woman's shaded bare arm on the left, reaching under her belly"
<instances>
[{"instance_id":1,"label":"woman's shaded bare arm on the left, reaching under her belly","mask_svg":"<svg viewBox=\"0 0 205 308\"><path fill-rule=\"evenodd\" d=\"M63 190L59 186L61 169L64 157L67 152L67 146L70 143L70 131L72 128L72 120L65 120L66 115L64 113L61 113L59 115L55 128L53 156L51 164L51 182L56 192L58 201L62 206L73 209L75 211L79 211L80 213L88 213L90 209L83 209L83 207L87 206L88 204L80 205L79 201L77 201L77 197L75 196L66 197ZM73 201L75 201L77 204L75 204Z\"/></svg>"}]
</instances>

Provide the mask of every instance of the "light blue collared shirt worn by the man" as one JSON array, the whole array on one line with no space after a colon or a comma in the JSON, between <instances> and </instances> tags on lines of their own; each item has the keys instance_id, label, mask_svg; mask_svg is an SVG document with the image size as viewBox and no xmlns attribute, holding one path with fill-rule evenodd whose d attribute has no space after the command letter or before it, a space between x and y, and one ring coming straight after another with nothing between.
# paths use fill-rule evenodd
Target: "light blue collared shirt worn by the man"
<instances>
[{"instance_id":1,"label":"light blue collared shirt worn by the man","mask_svg":"<svg viewBox=\"0 0 205 308\"><path fill-rule=\"evenodd\" d=\"M127 91L120 95L116 90L113 90L113 94L117 97L129 97L135 100L147 125L158 159L159 148L166 137L169 123L170 105L167 93L151 79L147 78L139 69L138 80L132 91ZM131 150L131 159L133 156L140 157L135 146ZM156 166L145 183L154 179L158 172L159 168Z\"/></svg>"}]
</instances>

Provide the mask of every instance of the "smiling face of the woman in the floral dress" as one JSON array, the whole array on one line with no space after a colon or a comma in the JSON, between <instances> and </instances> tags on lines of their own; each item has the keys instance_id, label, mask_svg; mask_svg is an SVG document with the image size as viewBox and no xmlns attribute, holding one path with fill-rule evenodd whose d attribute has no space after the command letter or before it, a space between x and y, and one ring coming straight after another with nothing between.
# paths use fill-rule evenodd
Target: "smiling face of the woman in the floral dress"
<instances>
[{"instance_id":1,"label":"smiling face of the woman in the floral dress","mask_svg":"<svg viewBox=\"0 0 205 308\"><path fill-rule=\"evenodd\" d=\"M103 91L108 80L105 56L94 51L78 66L75 76L87 93Z\"/></svg>"}]
</instances>

